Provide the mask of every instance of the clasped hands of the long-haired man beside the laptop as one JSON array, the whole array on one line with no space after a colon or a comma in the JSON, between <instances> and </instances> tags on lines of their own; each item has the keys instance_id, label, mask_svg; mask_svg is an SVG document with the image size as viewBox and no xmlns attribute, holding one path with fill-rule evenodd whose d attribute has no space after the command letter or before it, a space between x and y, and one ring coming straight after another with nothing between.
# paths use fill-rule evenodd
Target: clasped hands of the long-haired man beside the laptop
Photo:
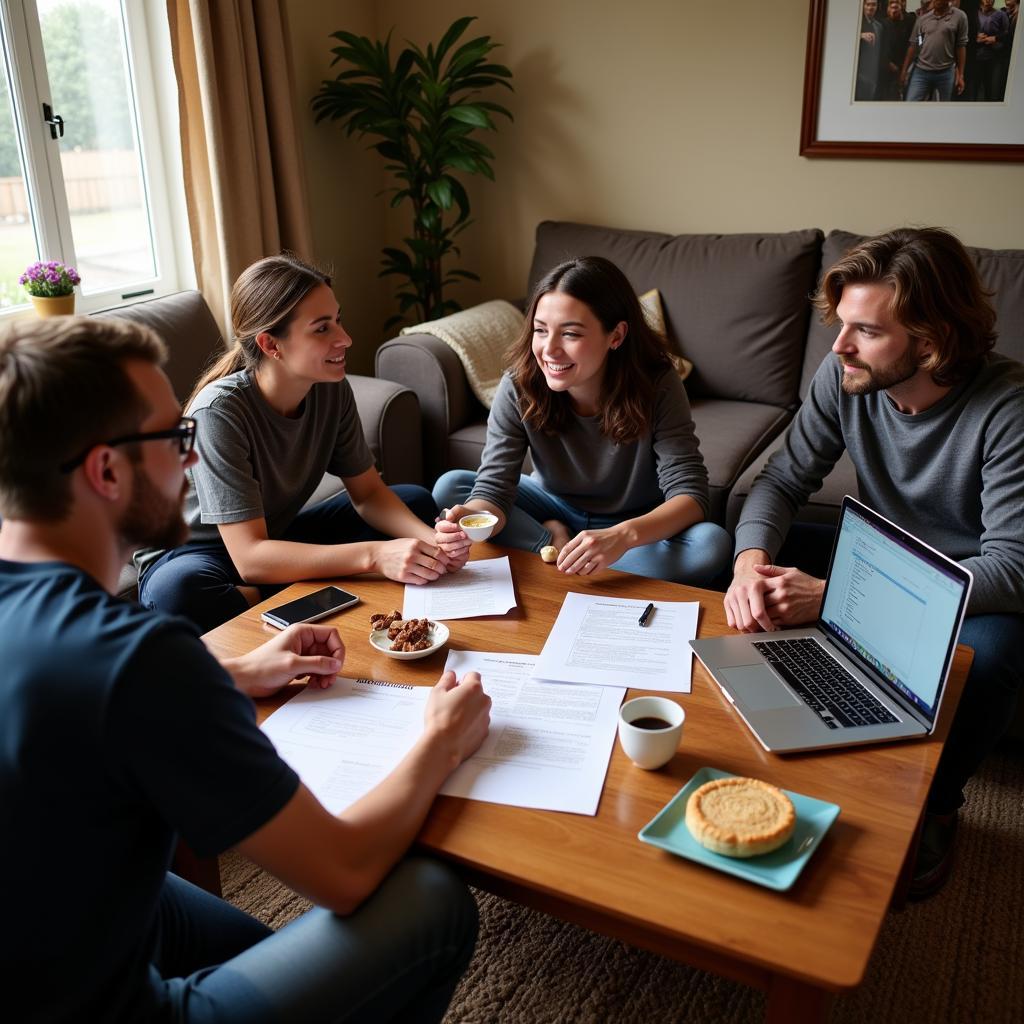
<instances>
[{"instance_id":1,"label":"clasped hands of the long-haired man beside the laptop","mask_svg":"<svg viewBox=\"0 0 1024 1024\"><path fill-rule=\"evenodd\" d=\"M801 626L817 617L823 591L823 580L798 568L737 563L725 595L725 618L741 633Z\"/></svg>"}]
</instances>

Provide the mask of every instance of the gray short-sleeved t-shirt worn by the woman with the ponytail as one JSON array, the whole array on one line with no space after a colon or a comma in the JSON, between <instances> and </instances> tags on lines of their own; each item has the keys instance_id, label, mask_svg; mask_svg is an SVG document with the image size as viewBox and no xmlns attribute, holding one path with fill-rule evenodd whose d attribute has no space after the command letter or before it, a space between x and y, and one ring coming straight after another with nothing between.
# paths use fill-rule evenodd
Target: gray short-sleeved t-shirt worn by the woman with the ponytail
<instances>
[{"instance_id":1,"label":"gray short-sleeved t-shirt worn by the woman with the ponytail","mask_svg":"<svg viewBox=\"0 0 1024 1024\"><path fill-rule=\"evenodd\" d=\"M264 519L281 538L326 472L356 476L374 465L347 380L314 384L299 415L271 409L245 370L208 384L188 409L199 462L187 470L190 542L218 541L218 523ZM144 570L162 552L135 556Z\"/></svg>"}]
</instances>

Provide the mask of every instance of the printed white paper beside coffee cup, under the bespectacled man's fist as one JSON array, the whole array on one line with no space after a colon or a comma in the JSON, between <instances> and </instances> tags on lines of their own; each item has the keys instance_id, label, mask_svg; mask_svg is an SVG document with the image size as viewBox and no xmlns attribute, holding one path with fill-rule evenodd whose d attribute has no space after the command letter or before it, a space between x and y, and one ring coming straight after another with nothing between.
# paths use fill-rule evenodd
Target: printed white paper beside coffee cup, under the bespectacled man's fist
<instances>
[{"instance_id":1,"label":"printed white paper beside coffee cup, under the bespectacled man's fist","mask_svg":"<svg viewBox=\"0 0 1024 1024\"><path fill-rule=\"evenodd\" d=\"M444 668L478 672L493 702L487 738L441 793L596 814L626 690L541 682L536 665L535 654L449 653Z\"/></svg>"}]
</instances>

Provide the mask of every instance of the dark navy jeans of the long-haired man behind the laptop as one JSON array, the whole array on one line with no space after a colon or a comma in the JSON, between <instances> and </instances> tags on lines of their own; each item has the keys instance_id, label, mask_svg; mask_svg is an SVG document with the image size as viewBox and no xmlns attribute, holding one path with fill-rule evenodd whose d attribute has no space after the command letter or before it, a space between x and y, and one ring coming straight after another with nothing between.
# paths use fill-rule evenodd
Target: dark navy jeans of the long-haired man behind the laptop
<instances>
[{"instance_id":1,"label":"dark navy jeans of the long-haired man behind the laptop","mask_svg":"<svg viewBox=\"0 0 1024 1024\"><path fill-rule=\"evenodd\" d=\"M835 538L835 526L794 523L775 562L823 578ZM1013 720L1024 679L1024 615L968 615L959 642L974 648L974 663L928 797L935 814L964 805L964 786Z\"/></svg>"}]
</instances>

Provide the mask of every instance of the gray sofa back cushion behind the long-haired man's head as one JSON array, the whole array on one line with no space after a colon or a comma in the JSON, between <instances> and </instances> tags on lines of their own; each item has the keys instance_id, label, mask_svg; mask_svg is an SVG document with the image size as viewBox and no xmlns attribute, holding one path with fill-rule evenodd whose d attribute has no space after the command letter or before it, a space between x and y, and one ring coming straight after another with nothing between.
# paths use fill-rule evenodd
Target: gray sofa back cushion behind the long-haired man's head
<instances>
[{"instance_id":1,"label":"gray sofa back cushion behind the long-haired man's head","mask_svg":"<svg viewBox=\"0 0 1024 1024\"><path fill-rule=\"evenodd\" d=\"M869 236L829 231L821 248L821 273L818 281L828 267L866 238ZM999 332L996 349L1024 362L1024 331L1020 329L1020 325L1024 324L1024 249L966 248L978 267L982 284L992 293L991 303L995 308L995 325ZM838 334L837 325L825 327L817 312L813 312L800 376L801 398L807 395L811 379L821 366L821 360L831 350Z\"/></svg>"}]
</instances>

